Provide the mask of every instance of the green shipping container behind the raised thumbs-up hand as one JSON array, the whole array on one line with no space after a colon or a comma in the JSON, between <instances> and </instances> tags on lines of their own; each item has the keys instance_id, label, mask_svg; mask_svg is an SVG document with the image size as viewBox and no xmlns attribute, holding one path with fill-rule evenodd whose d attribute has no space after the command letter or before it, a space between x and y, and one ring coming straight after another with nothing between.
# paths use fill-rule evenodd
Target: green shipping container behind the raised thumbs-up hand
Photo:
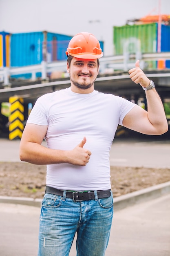
<instances>
[{"instance_id":1,"label":"green shipping container behind the raised thumbs-up hand","mask_svg":"<svg viewBox=\"0 0 170 256\"><path fill-rule=\"evenodd\" d=\"M157 52L157 23L113 27L114 55ZM156 68L149 61L148 68Z\"/></svg>"}]
</instances>

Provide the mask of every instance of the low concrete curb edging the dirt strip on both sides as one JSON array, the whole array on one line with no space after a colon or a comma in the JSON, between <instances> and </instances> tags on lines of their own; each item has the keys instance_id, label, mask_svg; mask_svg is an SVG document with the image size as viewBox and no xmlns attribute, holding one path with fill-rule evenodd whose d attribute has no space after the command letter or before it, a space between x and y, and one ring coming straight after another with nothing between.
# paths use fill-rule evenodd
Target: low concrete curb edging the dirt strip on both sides
<instances>
[{"instance_id":1,"label":"low concrete curb edging the dirt strip on both sides","mask_svg":"<svg viewBox=\"0 0 170 256\"><path fill-rule=\"evenodd\" d=\"M170 182L161 183L126 195L120 195L114 198L114 210L118 211L134 204L158 198L168 193L170 193ZM41 207L42 199L0 196L0 203L24 204Z\"/></svg>"}]
</instances>

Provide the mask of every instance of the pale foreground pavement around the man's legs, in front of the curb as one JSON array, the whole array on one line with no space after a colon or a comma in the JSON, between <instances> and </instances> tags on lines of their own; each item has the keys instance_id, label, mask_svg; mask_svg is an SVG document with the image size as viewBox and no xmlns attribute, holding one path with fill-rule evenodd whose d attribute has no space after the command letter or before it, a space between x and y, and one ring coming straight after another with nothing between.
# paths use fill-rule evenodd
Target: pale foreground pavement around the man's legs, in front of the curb
<instances>
[{"instance_id":1,"label":"pale foreground pavement around the man's legs, in front of the curb","mask_svg":"<svg viewBox=\"0 0 170 256\"><path fill-rule=\"evenodd\" d=\"M36 207L0 204L0 256L37 255L39 214ZM170 256L170 194L115 212L105 256Z\"/></svg>"}]
</instances>

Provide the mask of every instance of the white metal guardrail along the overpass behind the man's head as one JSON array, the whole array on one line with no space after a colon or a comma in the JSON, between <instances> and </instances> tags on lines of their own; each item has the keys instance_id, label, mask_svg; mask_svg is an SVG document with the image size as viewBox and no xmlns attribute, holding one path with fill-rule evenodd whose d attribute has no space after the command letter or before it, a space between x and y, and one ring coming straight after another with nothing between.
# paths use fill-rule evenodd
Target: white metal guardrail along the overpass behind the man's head
<instances>
[{"instance_id":1,"label":"white metal guardrail along the overpass behind the man's head","mask_svg":"<svg viewBox=\"0 0 170 256\"><path fill-rule=\"evenodd\" d=\"M115 55L109 57L103 57L100 59L100 74L106 74L107 72L114 72L114 70L123 70L127 72L130 68L135 67L135 61L140 60L140 67L144 69L146 61L159 61L170 60L170 52L160 53L145 53L141 54L124 54ZM66 61L55 61L47 63L42 61L39 65L31 65L25 67L4 67L0 69L0 78L4 87L9 86L9 78L12 75L29 74L31 73L31 80L36 80L36 73L41 72L41 79L48 80L47 74L53 71L66 72Z\"/></svg>"}]
</instances>

